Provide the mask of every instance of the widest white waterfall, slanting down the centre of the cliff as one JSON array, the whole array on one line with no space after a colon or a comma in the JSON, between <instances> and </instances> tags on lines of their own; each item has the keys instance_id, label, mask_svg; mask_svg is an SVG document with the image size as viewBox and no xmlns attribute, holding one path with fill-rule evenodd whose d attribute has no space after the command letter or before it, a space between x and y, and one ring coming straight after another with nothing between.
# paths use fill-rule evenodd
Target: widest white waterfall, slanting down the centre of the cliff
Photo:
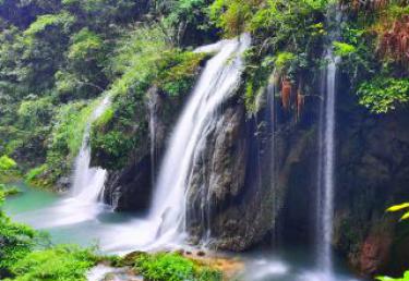
<instances>
[{"instance_id":1,"label":"widest white waterfall, slanting down the centre of the cliff","mask_svg":"<svg viewBox=\"0 0 409 281\"><path fill-rule=\"evenodd\" d=\"M205 142L206 129L217 121L217 110L234 93L243 69L241 59L250 46L250 35L201 47L196 52L216 52L188 101L172 132L160 166L149 220L156 221L159 241L177 239L185 227L185 195L196 151Z\"/></svg>"}]
</instances>

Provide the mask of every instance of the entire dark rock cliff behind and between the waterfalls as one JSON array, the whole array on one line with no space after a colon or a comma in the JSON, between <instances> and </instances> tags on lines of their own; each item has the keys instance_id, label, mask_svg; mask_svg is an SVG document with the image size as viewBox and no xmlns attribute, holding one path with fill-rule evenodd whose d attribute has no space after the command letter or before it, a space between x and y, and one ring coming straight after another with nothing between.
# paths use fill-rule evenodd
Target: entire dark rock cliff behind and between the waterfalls
<instances>
[{"instance_id":1,"label":"entire dark rock cliff behind and between the waterfalls","mask_svg":"<svg viewBox=\"0 0 409 281\"><path fill-rule=\"evenodd\" d=\"M409 227L384 211L409 200L409 112L372 115L348 89L338 93L334 246L365 276L409 267L409 241L402 235ZM125 169L109 173L105 199L118 210L148 207L152 175L183 103L155 88L149 96L154 135ZM229 251L273 236L314 242L320 100L306 100L298 122L279 103L274 134L268 107L249 118L236 95L202 136L187 191L193 242Z\"/></svg>"}]
</instances>

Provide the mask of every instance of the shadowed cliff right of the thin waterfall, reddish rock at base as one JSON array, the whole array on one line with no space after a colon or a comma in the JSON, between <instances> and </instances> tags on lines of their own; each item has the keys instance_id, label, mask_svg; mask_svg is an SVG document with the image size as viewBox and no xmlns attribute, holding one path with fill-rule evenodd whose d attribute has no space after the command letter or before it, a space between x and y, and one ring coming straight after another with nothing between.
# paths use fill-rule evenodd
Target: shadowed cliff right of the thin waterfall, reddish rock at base
<instances>
[{"instance_id":1,"label":"shadowed cliff right of the thin waterfall, reddish rock at base","mask_svg":"<svg viewBox=\"0 0 409 281\"><path fill-rule=\"evenodd\" d=\"M362 111L340 112L335 244L372 276L409 267L409 225L385 213L409 199L409 112Z\"/></svg>"}]
</instances>

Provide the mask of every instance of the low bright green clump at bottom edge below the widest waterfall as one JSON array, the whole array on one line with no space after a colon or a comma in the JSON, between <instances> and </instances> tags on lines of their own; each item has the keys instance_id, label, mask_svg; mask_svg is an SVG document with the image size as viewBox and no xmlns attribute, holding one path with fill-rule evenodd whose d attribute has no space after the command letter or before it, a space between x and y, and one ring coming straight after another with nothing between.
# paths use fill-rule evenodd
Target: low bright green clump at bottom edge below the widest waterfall
<instances>
[{"instance_id":1,"label":"low bright green clump at bottom edge below the widest waterfall","mask_svg":"<svg viewBox=\"0 0 409 281\"><path fill-rule=\"evenodd\" d=\"M220 272L201 267L177 253L141 255L136 258L135 269L147 280L155 281L221 281Z\"/></svg>"}]
</instances>

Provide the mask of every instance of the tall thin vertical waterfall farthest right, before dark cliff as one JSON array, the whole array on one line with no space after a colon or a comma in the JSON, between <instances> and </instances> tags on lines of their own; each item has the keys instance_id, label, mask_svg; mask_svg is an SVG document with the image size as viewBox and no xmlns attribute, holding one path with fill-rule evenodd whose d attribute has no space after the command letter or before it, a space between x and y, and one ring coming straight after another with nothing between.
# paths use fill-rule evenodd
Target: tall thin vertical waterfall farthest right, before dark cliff
<instances>
[{"instance_id":1,"label":"tall thin vertical waterfall farthest right, before dark cliff","mask_svg":"<svg viewBox=\"0 0 409 281\"><path fill-rule=\"evenodd\" d=\"M340 13L335 10L335 21L340 22ZM332 12L332 11L330 11ZM328 16L330 19L330 16ZM338 26L338 24L337 24ZM338 29L329 34L330 44L336 40ZM322 95L324 101L320 117L318 142L318 192L317 192L317 257L320 269L329 278L333 272L332 240L334 224L334 190L335 190L335 126L336 126L336 74L339 58L328 46L325 60L326 70L323 72Z\"/></svg>"}]
</instances>

